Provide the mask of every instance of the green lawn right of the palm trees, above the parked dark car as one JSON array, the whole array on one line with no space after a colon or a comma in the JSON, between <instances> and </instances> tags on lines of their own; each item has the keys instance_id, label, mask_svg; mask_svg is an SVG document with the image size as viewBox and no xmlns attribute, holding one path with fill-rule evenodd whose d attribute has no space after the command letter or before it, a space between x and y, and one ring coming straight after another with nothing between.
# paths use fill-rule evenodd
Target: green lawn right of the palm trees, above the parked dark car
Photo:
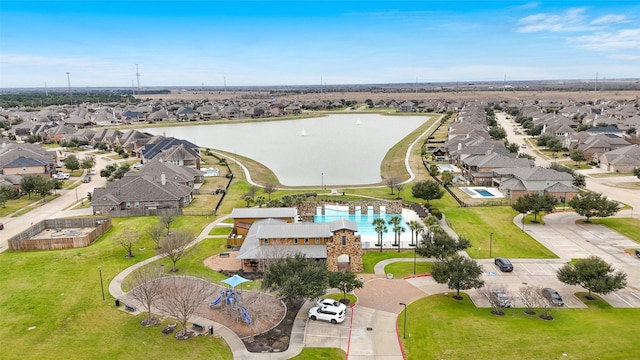
<instances>
[{"instance_id":1,"label":"green lawn right of the palm trees, above the parked dark car","mask_svg":"<svg viewBox=\"0 0 640 360\"><path fill-rule=\"evenodd\" d=\"M555 258L549 249L513 223L516 214L508 206L474 207L448 210L446 218L458 235L471 241L467 253L472 258Z\"/></svg>"}]
</instances>

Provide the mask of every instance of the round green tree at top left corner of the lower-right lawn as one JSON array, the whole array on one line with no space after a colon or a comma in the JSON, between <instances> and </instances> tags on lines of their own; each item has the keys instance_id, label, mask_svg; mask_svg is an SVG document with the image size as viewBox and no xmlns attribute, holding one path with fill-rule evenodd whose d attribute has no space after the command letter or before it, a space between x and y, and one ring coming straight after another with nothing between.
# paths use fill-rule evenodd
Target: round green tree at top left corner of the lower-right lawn
<instances>
[{"instance_id":1,"label":"round green tree at top left corner of the lower-right lawn","mask_svg":"<svg viewBox=\"0 0 640 360\"><path fill-rule=\"evenodd\" d=\"M456 290L457 300L461 300L460 290L477 289L484 286L482 267L475 260L459 255L433 264L431 276L438 284L447 284Z\"/></svg>"}]
</instances>

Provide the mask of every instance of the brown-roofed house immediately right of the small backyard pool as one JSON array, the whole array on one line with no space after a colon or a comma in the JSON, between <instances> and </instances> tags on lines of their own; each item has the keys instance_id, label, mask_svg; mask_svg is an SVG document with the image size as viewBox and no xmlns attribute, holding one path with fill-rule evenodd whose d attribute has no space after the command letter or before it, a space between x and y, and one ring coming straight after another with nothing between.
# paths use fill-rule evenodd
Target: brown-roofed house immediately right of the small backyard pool
<instances>
[{"instance_id":1,"label":"brown-roofed house immediately right of the small backyard pool","mask_svg":"<svg viewBox=\"0 0 640 360\"><path fill-rule=\"evenodd\" d=\"M495 186L511 200L526 194L551 194L558 202L567 202L577 193L573 176L566 172L543 167L517 167L495 169Z\"/></svg>"}]
</instances>

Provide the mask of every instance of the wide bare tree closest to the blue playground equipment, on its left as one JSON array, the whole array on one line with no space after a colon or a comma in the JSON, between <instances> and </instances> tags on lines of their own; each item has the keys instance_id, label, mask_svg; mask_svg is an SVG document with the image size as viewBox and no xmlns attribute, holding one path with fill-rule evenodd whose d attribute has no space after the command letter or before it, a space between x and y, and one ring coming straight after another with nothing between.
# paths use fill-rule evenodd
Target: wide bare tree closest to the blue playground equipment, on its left
<instances>
[{"instance_id":1,"label":"wide bare tree closest to the blue playground equipment, on its left","mask_svg":"<svg viewBox=\"0 0 640 360\"><path fill-rule=\"evenodd\" d=\"M161 280L162 295L157 307L182 326L176 338L189 338L192 332L187 329L187 322L198 307L214 295L214 288L207 281L191 276L169 276Z\"/></svg>"}]
</instances>

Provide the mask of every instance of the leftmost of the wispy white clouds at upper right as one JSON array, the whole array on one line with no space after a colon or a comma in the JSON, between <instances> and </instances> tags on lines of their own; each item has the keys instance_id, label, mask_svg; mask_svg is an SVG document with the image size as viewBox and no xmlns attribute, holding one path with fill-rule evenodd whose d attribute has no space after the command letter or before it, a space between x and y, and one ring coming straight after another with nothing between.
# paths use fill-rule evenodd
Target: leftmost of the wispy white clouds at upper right
<instances>
[{"instance_id":1,"label":"leftmost of the wispy white clouds at upper right","mask_svg":"<svg viewBox=\"0 0 640 360\"><path fill-rule=\"evenodd\" d=\"M535 14L518 21L520 32L579 31L587 28L584 8L569 9L562 14Z\"/></svg>"}]
</instances>

